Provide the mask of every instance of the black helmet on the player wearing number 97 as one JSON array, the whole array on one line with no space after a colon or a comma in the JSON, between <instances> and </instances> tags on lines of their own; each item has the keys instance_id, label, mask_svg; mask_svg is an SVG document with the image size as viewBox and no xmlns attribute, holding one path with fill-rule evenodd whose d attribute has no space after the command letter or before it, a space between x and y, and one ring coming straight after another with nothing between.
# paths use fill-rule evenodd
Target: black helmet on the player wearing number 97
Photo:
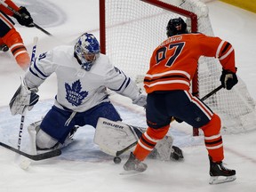
<instances>
[{"instance_id":1,"label":"black helmet on the player wearing number 97","mask_svg":"<svg viewBox=\"0 0 256 192\"><path fill-rule=\"evenodd\" d=\"M168 37L187 33L187 24L180 17L169 20L168 25L166 27L166 35Z\"/></svg>"}]
</instances>

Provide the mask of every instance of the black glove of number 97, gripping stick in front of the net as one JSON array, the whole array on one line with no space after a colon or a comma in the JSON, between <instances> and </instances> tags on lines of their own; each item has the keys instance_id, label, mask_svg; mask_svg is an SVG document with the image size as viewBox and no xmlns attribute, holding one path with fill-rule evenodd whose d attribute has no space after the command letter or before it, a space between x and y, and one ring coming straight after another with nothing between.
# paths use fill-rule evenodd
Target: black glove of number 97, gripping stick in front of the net
<instances>
[{"instance_id":1,"label":"black glove of number 97, gripping stick in front of the net","mask_svg":"<svg viewBox=\"0 0 256 192\"><path fill-rule=\"evenodd\" d=\"M225 89L231 90L232 87L238 83L236 73L233 73L229 70L225 70L223 68L222 74L220 76L220 82Z\"/></svg>"}]
</instances>

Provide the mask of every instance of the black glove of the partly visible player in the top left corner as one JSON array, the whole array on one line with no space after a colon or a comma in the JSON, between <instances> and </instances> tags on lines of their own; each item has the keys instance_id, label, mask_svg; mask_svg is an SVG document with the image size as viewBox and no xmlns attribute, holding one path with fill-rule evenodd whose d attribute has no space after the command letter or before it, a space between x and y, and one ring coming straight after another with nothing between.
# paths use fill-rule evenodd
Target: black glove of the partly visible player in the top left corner
<instances>
[{"instance_id":1,"label":"black glove of the partly visible player in the top left corner","mask_svg":"<svg viewBox=\"0 0 256 192\"><path fill-rule=\"evenodd\" d=\"M20 6L20 10L18 12L20 15L14 14L13 17L18 20L20 25L26 26L28 28L34 27L33 19L26 7Z\"/></svg>"}]
</instances>

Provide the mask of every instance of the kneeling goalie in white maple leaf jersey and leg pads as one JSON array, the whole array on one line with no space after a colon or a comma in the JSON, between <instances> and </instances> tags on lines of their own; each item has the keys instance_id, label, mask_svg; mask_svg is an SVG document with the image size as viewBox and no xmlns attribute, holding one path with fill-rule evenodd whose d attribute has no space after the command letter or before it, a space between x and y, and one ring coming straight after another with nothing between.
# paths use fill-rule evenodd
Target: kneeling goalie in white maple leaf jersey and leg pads
<instances>
[{"instance_id":1,"label":"kneeling goalie in white maple leaf jersey and leg pads","mask_svg":"<svg viewBox=\"0 0 256 192\"><path fill-rule=\"evenodd\" d=\"M36 98L35 90L52 73L56 74L58 81L54 105L42 121L28 126L28 132L35 132L34 136L31 134L35 151L63 147L77 127L85 124L96 128L94 141L109 155L115 155L116 151L140 138L143 130L121 122L106 91L108 88L129 97L133 104L142 107L147 104L146 96L140 94L139 88L129 76L109 62L108 56L100 53L100 44L95 36L88 33L79 37L75 47L59 46L36 58L10 102L12 115L22 114L24 108L33 107L36 103L33 100ZM126 129L118 129L119 125ZM126 136L118 138L118 132L124 132ZM163 143L166 145L159 147L162 159L166 160L168 153L168 159L170 156L174 159L183 158L180 148L172 147L170 136Z\"/></svg>"}]
</instances>

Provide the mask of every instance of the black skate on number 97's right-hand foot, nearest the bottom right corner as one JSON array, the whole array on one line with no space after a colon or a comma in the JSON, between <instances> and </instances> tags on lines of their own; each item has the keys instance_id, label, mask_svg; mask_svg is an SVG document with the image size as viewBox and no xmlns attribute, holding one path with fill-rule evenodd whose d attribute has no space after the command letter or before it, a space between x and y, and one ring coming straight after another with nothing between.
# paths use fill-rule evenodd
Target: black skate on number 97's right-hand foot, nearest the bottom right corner
<instances>
[{"instance_id":1,"label":"black skate on number 97's right-hand foot, nearest the bottom right corner","mask_svg":"<svg viewBox=\"0 0 256 192\"><path fill-rule=\"evenodd\" d=\"M230 182L236 180L236 171L226 168L222 162L212 162L212 157L210 159L210 181L209 184L220 184L225 182Z\"/></svg>"}]
</instances>

